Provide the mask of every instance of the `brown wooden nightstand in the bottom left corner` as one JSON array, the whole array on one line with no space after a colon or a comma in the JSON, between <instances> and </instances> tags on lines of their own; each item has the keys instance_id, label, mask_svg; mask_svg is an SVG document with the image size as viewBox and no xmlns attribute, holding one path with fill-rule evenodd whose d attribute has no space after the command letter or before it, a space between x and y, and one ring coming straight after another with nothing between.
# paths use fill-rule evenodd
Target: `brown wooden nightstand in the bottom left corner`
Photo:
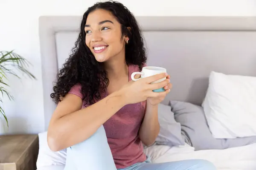
<instances>
[{"instance_id":1,"label":"brown wooden nightstand in the bottom left corner","mask_svg":"<svg viewBox=\"0 0 256 170\"><path fill-rule=\"evenodd\" d=\"M36 170L38 135L0 136L0 170Z\"/></svg>"}]
</instances>

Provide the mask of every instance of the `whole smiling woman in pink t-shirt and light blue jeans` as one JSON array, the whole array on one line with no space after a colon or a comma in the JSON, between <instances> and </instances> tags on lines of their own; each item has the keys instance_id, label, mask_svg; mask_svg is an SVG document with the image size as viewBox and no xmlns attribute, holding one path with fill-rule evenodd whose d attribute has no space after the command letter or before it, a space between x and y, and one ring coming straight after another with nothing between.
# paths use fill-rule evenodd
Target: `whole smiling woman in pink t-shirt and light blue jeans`
<instances>
[{"instance_id":1,"label":"whole smiling woman in pink t-shirt and light blue jeans","mask_svg":"<svg viewBox=\"0 0 256 170\"><path fill-rule=\"evenodd\" d=\"M215 170L204 160L152 164L143 153L143 143L153 144L159 133L158 104L172 87L165 73L131 80L146 65L143 45L121 3L96 3L84 13L51 94L58 105L47 141L51 150L67 148L65 170ZM165 91L153 91L159 88Z\"/></svg>"}]
</instances>

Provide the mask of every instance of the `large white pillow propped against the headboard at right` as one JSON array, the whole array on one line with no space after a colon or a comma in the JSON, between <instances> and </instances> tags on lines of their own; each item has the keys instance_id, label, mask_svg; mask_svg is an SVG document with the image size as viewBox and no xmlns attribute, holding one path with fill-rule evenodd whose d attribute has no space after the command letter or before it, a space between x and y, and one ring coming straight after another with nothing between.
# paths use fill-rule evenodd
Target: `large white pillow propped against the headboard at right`
<instances>
[{"instance_id":1,"label":"large white pillow propped against the headboard at right","mask_svg":"<svg viewBox=\"0 0 256 170\"><path fill-rule=\"evenodd\" d=\"M214 138L256 136L256 77L212 71L202 106Z\"/></svg>"}]
</instances>

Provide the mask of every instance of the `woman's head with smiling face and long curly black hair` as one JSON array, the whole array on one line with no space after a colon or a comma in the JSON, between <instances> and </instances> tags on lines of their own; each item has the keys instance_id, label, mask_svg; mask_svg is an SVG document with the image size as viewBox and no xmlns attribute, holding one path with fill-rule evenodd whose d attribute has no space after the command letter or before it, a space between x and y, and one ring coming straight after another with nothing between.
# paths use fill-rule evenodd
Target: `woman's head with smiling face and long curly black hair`
<instances>
[{"instance_id":1,"label":"woman's head with smiling face and long curly black hair","mask_svg":"<svg viewBox=\"0 0 256 170\"><path fill-rule=\"evenodd\" d=\"M143 37L133 14L121 3L96 3L83 15L73 54L60 70L51 94L54 102L60 102L77 83L88 104L99 100L99 89L106 92L109 84L104 62L110 57L122 58L123 63L141 70L146 62Z\"/></svg>"}]
</instances>

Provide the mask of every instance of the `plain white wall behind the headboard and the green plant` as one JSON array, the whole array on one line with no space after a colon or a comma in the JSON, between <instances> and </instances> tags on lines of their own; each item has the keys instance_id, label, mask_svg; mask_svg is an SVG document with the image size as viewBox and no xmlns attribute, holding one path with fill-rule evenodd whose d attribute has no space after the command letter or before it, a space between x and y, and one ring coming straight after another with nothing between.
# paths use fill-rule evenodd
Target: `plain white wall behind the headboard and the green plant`
<instances>
[{"instance_id":1,"label":"plain white wall behind the headboard and the green plant","mask_svg":"<svg viewBox=\"0 0 256 170\"><path fill-rule=\"evenodd\" d=\"M0 51L12 50L32 63L29 68L37 81L10 77L15 101L4 98L9 131L44 131L41 58L38 17L41 15L82 15L96 0L0 0ZM256 0L120 0L140 16L256 16ZM156 3L157 2L157 3Z\"/></svg>"}]
</instances>

